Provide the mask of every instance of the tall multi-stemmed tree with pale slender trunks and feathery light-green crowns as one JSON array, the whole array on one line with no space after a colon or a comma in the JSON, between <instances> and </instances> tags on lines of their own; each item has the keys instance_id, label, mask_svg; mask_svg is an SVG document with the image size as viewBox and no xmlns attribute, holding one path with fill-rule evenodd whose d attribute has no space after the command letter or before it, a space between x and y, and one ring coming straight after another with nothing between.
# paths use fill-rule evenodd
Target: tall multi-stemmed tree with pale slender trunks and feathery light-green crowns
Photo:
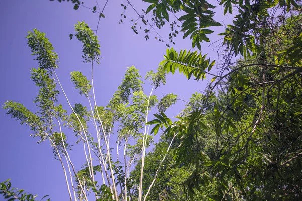
<instances>
[{"instance_id":1,"label":"tall multi-stemmed tree with pale slender trunks and feathery light-green crowns","mask_svg":"<svg viewBox=\"0 0 302 201\"><path fill-rule=\"evenodd\" d=\"M121 85L108 105L98 106L93 85L93 67L99 63L100 56L97 36L85 22L75 24L75 34L70 37L73 36L83 44L84 62L91 63L91 80L81 72L70 73L75 89L87 98L88 108L81 103L71 105L55 71L59 67L58 55L53 51L54 48L45 33L34 29L33 32L28 32L27 39L28 46L33 55L36 55L39 64L39 67L33 68L31 72L31 79L39 87L39 93L34 100L37 112L33 113L24 105L12 101L6 102L3 109L21 124L28 124L33 136L40 138L39 143L46 140L50 142L54 158L60 161L64 171L70 200L88 200L91 191L94 192L96 200L127 200L128 193L133 190L130 186L140 189L129 181L129 169L138 158L144 160L146 148L152 143L152 136L148 132L149 126L146 125L148 113L152 108L165 111L175 103L171 97L176 96L169 94L170 98L164 97L157 106L157 97L152 95L152 91L149 95L144 94L142 86L144 82L140 79L138 70L131 66L126 70ZM148 73L147 77L155 88L165 82L161 73ZM58 102L60 92L63 92L68 103L68 110L71 112L69 114ZM83 144L85 159L80 170L73 165L69 156L74 146L67 143L67 137L72 137L70 131L75 134L77 144ZM115 139L113 138L116 140L114 147L109 144L113 134L116 134ZM112 153L113 148L116 151L115 156ZM121 149L123 162L120 161ZM96 162L99 164L96 165ZM142 174L139 185L143 181L143 165L144 162L141 163ZM99 181L101 186L95 178L97 172L101 174L102 180ZM3 188L1 193L6 195L8 191ZM13 193L10 194L15 196ZM142 199L142 192L138 197ZM34 197L29 195L27 199Z\"/></svg>"}]
</instances>

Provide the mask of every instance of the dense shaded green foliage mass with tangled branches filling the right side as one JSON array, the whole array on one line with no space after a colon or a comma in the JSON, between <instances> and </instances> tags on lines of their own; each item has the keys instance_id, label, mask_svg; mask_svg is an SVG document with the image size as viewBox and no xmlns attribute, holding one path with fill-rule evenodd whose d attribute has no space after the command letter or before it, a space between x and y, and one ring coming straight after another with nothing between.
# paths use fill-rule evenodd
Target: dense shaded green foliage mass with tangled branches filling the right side
<instances>
[{"instance_id":1,"label":"dense shaded green foliage mass with tangled branches filling the right side","mask_svg":"<svg viewBox=\"0 0 302 201\"><path fill-rule=\"evenodd\" d=\"M195 166L194 173L183 183L191 199L194 199L195 190L203 191L209 179L218 182L216 192L208 196L211 200L287 200L301 196L297 187L301 180L301 121L297 104L301 59L293 57L300 53L298 23L301 15L294 9L290 11L288 6L283 12L289 12L286 17L269 16L268 9L277 3L260 2L260 6L253 5L250 11L247 2L239 5L246 8L247 16L257 16L256 22L250 18L244 20L245 15L241 14L236 17L236 26L228 26L222 35L225 35L224 45L230 53L220 74L212 79L201 104L187 110L165 130L167 137L175 132L181 136L175 151L175 165ZM282 7L281 2L279 4ZM244 23L254 24L245 26ZM238 30L245 27L246 31ZM235 32L250 32L257 40ZM180 68L189 79L188 75L193 74L195 68L174 52L173 49L167 51L161 65L167 66L167 73ZM230 63L237 54L243 59ZM205 75L204 70L196 71ZM219 91L218 100L214 101L212 109L207 108L214 89ZM165 124L164 114L156 118L150 122L156 124L154 128ZM216 134L216 146L209 154L205 153L207 143L199 140L211 128L215 129L212 132ZM198 145L197 149L194 144Z\"/></svg>"}]
</instances>

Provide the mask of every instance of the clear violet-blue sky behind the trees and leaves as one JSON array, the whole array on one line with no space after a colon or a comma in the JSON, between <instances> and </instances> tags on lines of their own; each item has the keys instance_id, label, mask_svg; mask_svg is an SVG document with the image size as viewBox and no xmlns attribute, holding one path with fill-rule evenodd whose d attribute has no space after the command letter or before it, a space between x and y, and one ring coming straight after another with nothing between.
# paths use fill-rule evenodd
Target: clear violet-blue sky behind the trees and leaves
<instances>
[{"instance_id":1,"label":"clear violet-blue sky behind the trees and leaves","mask_svg":"<svg viewBox=\"0 0 302 201\"><path fill-rule=\"evenodd\" d=\"M105 0L98 2L101 8L105 4ZM148 5L139 0L131 2L140 13L141 9L146 9ZM144 77L146 72L157 69L166 53L164 43L155 40L154 32L150 34L149 41L144 39L145 27L138 30L138 35L133 33L130 20L138 16L130 7L125 12L127 19L123 19L124 23L119 25L120 14L123 12L121 3L126 4L126 1L109 0L104 11L105 18L101 19L98 31L102 59L100 66L95 68L94 84L97 104L102 106L107 104L121 83L126 67L134 65ZM85 5L92 8L95 6L95 0L86 0ZM68 35L74 32L73 27L77 21L85 21L94 30L98 14L93 14L83 7L74 11L72 7L70 2L49 0L0 1L0 104L13 100L35 111L33 100L38 89L30 79L30 69L37 67L37 62L33 60L25 38L27 31L33 28L45 32L53 44L60 58L57 73L71 103L74 105L81 102L82 98L78 91L74 90L69 74L71 71L81 71L90 77L90 66L83 64L81 44L76 40L69 40ZM223 16L220 10L217 9L218 15L215 19L219 22L225 20L224 23L228 24L232 20L231 17ZM159 33L168 41L169 25L167 28ZM219 39L214 36L223 32L223 27L216 30L218 32L213 34L211 42ZM190 40L183 40L181 35L175 42L173 47L178 51L191 48ZM208 53L212 60L217 59L216 50L213 50L216 44L208 47L209 45L210 43L202 44L203 54ZM158 88L155 94L160 98L162 94L173 92L179 95L179 98L188 100L192 93L203 91L205 86L207 81L188 81L183 75L176 73L174 76L169 75L167 84ZM150 85L145 84L147 94L149 90ZM60 100L63 106L67 107L64 98ZM182 107L183 103L176 105L168 115L177 115ZM0 110L0 120L0 181L11 178L14 187L39 194L40 198L49 194L51 200L68 200L63 171L59 161L54 160L49 143L45 141L37 145L38 139L29 136L30 129L11 119L3 109ZM81 154L77 150L71 152L71 158L78 168L83 164ZM2 199L3 197L0 197L0 200Z\"/></svg>"}]
</instances>

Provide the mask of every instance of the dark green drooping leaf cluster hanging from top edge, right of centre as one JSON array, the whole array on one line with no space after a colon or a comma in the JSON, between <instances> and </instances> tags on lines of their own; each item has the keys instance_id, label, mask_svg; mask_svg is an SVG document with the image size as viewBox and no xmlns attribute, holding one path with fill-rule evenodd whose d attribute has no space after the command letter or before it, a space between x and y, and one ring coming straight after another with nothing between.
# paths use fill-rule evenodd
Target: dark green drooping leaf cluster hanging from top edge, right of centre
<instances>
[{"instance_id":1,"label":"dark green drooping leaf cluster hanging from top edge, right of centre","mask_svg":"<svg viewBox=\"0 0 302 201\"><path fill-rule=\"evenodd\" d=\"M173 43L173 37L177 37L179 32L184 32L183 38L190 36L192 40L192 47L195 46L201 50L201 42L206 41L209 42L209 38L206 36L207 34L213 33L212 30L205 29L211 26L221 26L219 22L216 22L213 19L215 12L211 9L214 9L215 6L209 4L206 1L146 1L152 3L145 14L150 15L152 11L152 22L156 25L157 28L163 27L166 22L170 22L170 15L179 12L184 12L185 14L179 17L176 21L170 22L171 33L169 34L170 43ZM207 8L203 7L207 3ZM142 22L147 25L146 21L142 17ZM178 25L178 24L181 24ZM178 29L179 28L179 29ZM151 29L151 28L150 28ZM150 29L146 29L145 33L148 33ZM148 36L148 35L146 35ZM164 41L162 37L160 37L159 41ZM169 46L166 43L167 46Z\"/></svg>"}]
</instances>

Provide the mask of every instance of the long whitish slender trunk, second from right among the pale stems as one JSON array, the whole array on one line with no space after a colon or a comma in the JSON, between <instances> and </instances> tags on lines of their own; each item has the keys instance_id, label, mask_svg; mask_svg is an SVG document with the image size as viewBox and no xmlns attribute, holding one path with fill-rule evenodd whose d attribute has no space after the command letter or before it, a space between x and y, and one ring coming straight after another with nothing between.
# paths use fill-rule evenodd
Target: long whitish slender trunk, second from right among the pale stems
<instances>
[{"instance_id":1,"label":"long whitish slender trunk, second from right among the pale stems","mask_svg":"<svg viewBox=\"0 0 302 201\"><path fill-rule=\"evenodd\" d=\"M148 98L148 104L146 109L146 121L145 121L145 129L144 129L144 135L142 138L142 157L141 157L141 170L140 170L140 181L139 181L139 192L138 192L138 201L142 200L142 180L143 180L143 168L144 168L144 159L145 159L145 141L147 136L147 122L148 122L148 114L149 114L149 104L150 104L150 98L152 95L153 88L151 89L149 98Z\"/></svg>"}]
</instances>

